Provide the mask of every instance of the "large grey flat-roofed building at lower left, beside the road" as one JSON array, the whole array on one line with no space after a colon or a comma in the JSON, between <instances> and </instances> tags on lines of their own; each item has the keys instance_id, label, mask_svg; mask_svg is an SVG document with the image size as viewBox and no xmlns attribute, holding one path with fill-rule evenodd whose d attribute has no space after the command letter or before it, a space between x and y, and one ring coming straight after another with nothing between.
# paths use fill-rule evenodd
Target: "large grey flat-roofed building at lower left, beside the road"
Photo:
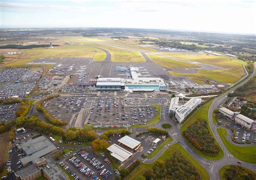
<instances>
[{"instance_id":1,"label":"large grey flat-roofed building at lower left, beside the road","mask_svg":"<svg viewBox=\"0 0 256 180\"><path fill-rule=\"evenodd\" d=\"M51 155L58 151L56 146L45 136L17 145L17 148L26 155L21 159L24 167L30 162L35 162L40 157Z\"/></svg>"}]
</instances>

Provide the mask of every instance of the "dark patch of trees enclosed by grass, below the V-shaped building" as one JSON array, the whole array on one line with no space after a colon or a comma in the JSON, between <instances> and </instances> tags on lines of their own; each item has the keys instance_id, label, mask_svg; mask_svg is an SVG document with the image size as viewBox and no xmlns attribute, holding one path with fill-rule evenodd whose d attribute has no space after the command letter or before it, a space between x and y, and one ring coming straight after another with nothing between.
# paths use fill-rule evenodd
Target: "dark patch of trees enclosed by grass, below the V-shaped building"
<instances>
[{"instance_id":1,"label":"dark patch of trees enclosed by grass, below the V-shaped building","mask_svg":"<svg viewBox=\"0 0 256 180\"><path fill-rule=\"evenodd\" d=\"M220 152L204 119L199 118L192 125L188 126L183 135L194 147L204 154L216 156Z\"/></svg>"}]
</instances>

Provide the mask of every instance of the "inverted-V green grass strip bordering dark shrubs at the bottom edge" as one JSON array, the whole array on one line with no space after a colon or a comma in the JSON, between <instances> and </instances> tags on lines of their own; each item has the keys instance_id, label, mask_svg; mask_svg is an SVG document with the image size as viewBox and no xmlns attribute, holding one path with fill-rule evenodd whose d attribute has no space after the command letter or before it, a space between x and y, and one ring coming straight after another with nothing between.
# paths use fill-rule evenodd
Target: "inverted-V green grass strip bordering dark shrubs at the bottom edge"
<instances>
[{"instance_id":1,"label":"inverted-V green grass strip bordering dark shrubs at the bottom edge","mask_svg":"<svg viewBox=\"0 0 256 180\"><path fill-rule=\"evenodd\" d=\"M179 143L175 143L174 145L171 145L168 149L166 149L165 152L159 156L158 160L166 161L176 151L181 153L186 159L188 159L194 165L194 167L196 167L198 169L198 171L200 172L201 177L202 177L201 179L209 179L209 176L208 176L206 170L203 167L201 167L201 165L196 160L194 160L186 152L186 150L183 149L183 147L181 147L179 145ZM126 180L129 180L129 179L134 179L134 180L142 179L141 177L144 174L146 168L152 168L155 163L156 162L153 162L151 164L142 163L141 165L139 165L139 167L137 167L134 171L132 171L131 174L129 176L127 176L125 179Z\"/></svg>"}]
</instances>

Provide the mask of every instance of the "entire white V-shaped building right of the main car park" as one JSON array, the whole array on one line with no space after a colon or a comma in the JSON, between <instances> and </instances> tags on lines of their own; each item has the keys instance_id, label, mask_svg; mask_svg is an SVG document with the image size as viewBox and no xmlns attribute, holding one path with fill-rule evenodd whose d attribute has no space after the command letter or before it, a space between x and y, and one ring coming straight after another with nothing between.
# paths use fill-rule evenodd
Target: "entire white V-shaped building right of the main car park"
<instances>
[{"instance_id":1,"label":"entire white V-shaped building right of the main car park","mask_svg":"<svg viewBox=\"0 0 256 180\"><path fill-rule=\"evenodd\" d=\"M181 121L183 121L187 115L201 103L201 98L192 98L182 105L179 105L178 102L179 97L171 99L169 113L173 114L178 123L181 123Z\"/></svg>"}]
</instances>

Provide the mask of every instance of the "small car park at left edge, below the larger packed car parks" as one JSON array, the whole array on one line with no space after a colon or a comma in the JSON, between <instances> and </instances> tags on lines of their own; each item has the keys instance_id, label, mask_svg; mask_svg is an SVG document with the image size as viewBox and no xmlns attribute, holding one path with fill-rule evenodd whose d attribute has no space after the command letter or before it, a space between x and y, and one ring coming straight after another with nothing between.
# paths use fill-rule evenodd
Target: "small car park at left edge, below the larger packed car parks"
<instances>
[{"instance_id":1,"label":"small car park at left edge, below the larger packed car parks","mask_svg":"<svg viewBox=\"0 0 256 180\"><path fill-rule=\"evenodd\" d=\"M0 120L8 122L11 119L15 119L15 112L19 104L11 104L11 105L0 105Z\"/></svg>"}]
</instances>

